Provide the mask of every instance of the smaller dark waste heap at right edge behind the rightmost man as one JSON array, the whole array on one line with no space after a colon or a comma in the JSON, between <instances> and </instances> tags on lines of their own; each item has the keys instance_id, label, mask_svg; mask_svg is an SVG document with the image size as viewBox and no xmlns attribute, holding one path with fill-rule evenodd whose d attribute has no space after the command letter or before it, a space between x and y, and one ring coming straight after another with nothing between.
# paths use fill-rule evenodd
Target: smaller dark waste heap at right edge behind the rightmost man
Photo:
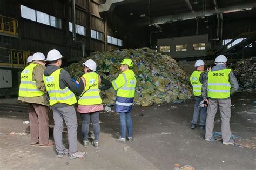
<instances>
[{"instance_id":1,"label":"smaller dark waste heap at right edge behind the rightmost man","mask_svg":"<svg viewBox=\"0 0 256 170\"><path fill-rule=\"evenodd\" d=\"M248 58L230 63L229 66L237 77L239 90L255 91L256 86L256 60Z\"/></svg>"}]
</instances>

